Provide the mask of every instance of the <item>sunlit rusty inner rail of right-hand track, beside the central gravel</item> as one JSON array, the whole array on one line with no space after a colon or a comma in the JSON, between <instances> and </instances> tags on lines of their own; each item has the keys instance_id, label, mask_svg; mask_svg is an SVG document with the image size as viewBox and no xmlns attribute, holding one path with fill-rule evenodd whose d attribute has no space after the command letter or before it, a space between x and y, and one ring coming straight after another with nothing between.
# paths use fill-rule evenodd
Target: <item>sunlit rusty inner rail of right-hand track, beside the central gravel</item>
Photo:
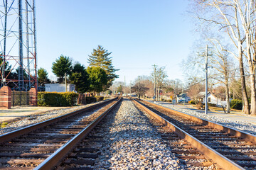
<instances>
[{"instance_id":1,"label":"sunlit rusty inner rail of right-hand track, beside the central gravel","mask_svg":"<svg viewBox=\"0 0 256 170\"><path fill-rule=\"evenodd\" d=\"M176 125L170 123L168 120L162 118L160 115L154 113L153 111L150 111L149 108L146 108L145 106L142 106L141 103L138 101L134 101L134 103L139 106L139 108L142 108L142 110L146 111L146 113L149 113L149 115L153 116L157 120L159 120L161 123L169 127L173 132L175 132L179 137L183 138L184 140L188 141L191 146L198 149L198 152L203 154L207 159L213 160L213 162L216 162L216 166L218 166L221 169L243 169L238 164L235 164L235 162L231 161L230 159L224 157L222 154L216 152L214 149L208 147L200 140L197 140L196 137L193 137L192 135L189 135L187 132L182 130L181 128L178 128Z\"/></svg>"}]
</instances>

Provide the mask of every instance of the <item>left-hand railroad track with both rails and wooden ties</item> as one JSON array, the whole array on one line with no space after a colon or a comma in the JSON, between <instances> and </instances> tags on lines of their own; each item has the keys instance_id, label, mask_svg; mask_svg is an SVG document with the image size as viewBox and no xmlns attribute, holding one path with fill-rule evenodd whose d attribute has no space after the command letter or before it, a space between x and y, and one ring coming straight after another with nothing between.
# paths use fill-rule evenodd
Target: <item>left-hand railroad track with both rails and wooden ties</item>
<instances>
[{"instance_id":1,"label":"left-hand railroad track with both rails and wooden ties","mask_svg":"<svg viewBox=\"0 0 256 170\"><path fill-rule=\"evenodd\" d=\"M30 125L0 136L0 169L50 169L121 99Z\"/></svg>"}]
</instances>

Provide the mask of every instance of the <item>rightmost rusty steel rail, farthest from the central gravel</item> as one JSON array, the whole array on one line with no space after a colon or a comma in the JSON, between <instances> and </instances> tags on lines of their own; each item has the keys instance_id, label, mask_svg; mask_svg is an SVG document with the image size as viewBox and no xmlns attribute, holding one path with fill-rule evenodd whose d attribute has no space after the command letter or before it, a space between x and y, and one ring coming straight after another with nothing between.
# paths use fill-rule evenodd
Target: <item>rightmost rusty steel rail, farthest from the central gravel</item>
<instances>
[{"instance_id":1,"label":"rightmost rusty steel rail, farthest from the central gravel","mask_svg":"<svg viewBox=\"0 0 256 170\"><path fill-rule=\"evenodd\" d=\"M194 120L198 123L203 123L203 125L208 125L212 128L218 129L218 130L223 130L224 132L227 132L230 135L234 135L235 137L239 137L240 139L245 140L247 142L256 143L256 135L252 135L252 134L247 133L247 132L242 132L241 130L237 130L235 128L230 128L230 127L225 126L225 125L220 125L219 123L213 123L210 120L206 120L206 119L203 119L203 118L198 118L194 115L188 115L186 113L175 111L171 108L166 108L164 106L159 106L159 105L157 105L155 103L151 103L149 101L144 101L144 102L148 103L151 106L155 106L156 108L161 108L164 111L172 112L172 113L175 113L176 115L181 115L182 117Z\"/></svg>"}]
</instances>

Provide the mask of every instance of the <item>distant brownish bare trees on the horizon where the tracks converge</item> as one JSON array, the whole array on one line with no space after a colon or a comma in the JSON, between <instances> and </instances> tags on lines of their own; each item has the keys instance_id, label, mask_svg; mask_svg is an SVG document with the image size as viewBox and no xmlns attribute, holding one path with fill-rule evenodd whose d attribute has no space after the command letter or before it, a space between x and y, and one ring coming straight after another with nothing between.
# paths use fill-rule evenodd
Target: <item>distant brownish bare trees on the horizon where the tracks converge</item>
<instances>
[{"instance_id":1,"label":"distant brownish bare trees on the horizon where the tracks converge","mask_svg":"<svg viewBox=\"0 0 256 170\"><path fill-rule=\"evenodd\" d=\"M136 94L138 98L153 98L156 101L171 101L177 94L183 92L183 82L180 79L167 79L165 67L154 67L150 76L138 76L129 86L122 81L116 81L110 87L113 94ZM155 91L156 89L156 91Z\"/></svg>"}]
</instances>

